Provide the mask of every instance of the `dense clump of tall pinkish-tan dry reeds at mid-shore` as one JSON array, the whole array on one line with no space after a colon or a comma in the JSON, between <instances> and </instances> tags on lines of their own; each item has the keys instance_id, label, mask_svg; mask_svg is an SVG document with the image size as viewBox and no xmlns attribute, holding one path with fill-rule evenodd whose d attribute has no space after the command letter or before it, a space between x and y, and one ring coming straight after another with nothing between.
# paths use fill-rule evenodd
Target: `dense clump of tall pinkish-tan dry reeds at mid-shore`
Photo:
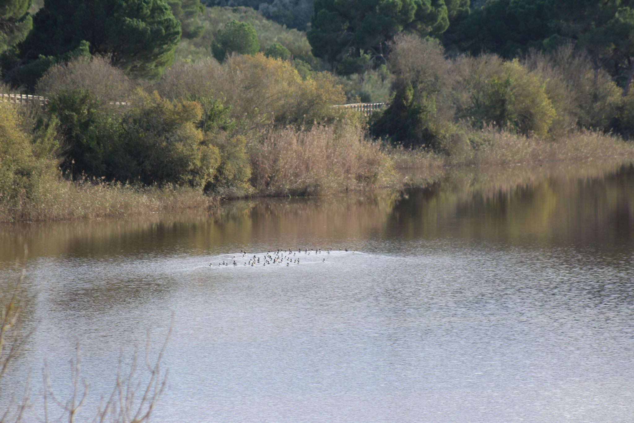
<instances>
[{"instance_id":1,"label":"dense clump of tall pinkish-tan dry reeds at mid-shore","mask_svg":"<svg viewBox=\"0 0 634 423\"><path fill-rule=\"evenodd\" d=\"M358 126L271 129L249 149L260 195L316 195L396 181L389 157Z\"/></svg>"}]
</instances>

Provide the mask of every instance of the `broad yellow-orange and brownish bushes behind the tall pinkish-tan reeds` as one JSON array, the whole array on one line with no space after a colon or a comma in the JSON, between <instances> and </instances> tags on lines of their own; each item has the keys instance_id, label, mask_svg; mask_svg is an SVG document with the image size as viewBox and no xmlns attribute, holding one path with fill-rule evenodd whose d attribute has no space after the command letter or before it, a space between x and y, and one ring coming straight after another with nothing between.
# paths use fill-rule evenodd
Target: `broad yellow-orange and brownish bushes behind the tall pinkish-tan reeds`
<instances>
[{"instance_id":1,"label":"broad yellow-orange and brownish bushes behind the tall pinkish-tan reeds","mask_svg":"<svg viewBox=\"0 0 634 423\"><path fill-rule=\"evenodd\" d=\"M342 108L331 107L346 102L332 74L301 77L292 63L261 53L232 56L224 65L214 60L174 65L157 90L168 98L198 99L204 93L221 100L241 134L271 124L311 126L348 115Z\"/></svg>"}]
</instances>

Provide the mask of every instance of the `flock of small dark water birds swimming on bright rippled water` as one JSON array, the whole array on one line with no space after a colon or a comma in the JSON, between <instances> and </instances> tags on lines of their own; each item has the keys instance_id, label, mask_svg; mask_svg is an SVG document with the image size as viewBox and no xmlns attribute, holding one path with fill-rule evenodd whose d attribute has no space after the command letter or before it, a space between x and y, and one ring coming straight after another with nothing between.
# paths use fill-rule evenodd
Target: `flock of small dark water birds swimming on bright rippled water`
<instances>
[{"instance_id":1,"label":"flock of small dark water birds swimming on bright rippled water","mask_svg":"<svg viewBox=\"0 0 634 423\"><path fill-rule=\"evenodd\" d=\"M258 254L250 254L247 251L242 251L240 250L240 254L233 254L233 257L228 258L228 259L223 259L223 261L220 261L217 266L240 266L242 264L242 266L293 266L293 265L299 265L300 263L302 263L302 254L303 256L306 256L305 259L307 258L307 256L317 256L318 254L330 254L331 252L334 251L344 251L344 252L355 252L354 250L349 250L349 249L338 249L338 250L333 250L332 248L328 248L325 250L322 250L320 248L318 249L298 249L297 251L293 251L292 249L288 249L288 250L276 250L276 251L271 251L269 250L268 252L264 252L264 253L259 253ZM231 255L231 254L230 254ZM242 263L240 263L242 262ZM321 258L321 262L322 263L326 263L326 257L322 257ZM314 263L314 262L313 262ZM210 267L214 267L216 266L215 262L209 263Z\"/></svg>"}]
</instances>

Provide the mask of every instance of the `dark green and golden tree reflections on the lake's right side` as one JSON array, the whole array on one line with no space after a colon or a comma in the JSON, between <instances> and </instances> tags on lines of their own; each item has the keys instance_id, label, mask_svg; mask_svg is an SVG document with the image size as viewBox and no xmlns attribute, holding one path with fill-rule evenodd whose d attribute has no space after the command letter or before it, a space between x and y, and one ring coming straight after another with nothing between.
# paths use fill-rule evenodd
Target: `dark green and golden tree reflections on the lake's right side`
<instances>
[{"instance_id":1,"label":"dark green and golden tree reflections on the lake's right side","mask_svg":"<svg viewBox=\"0 0 634 423\"><path fill-rule=\"evenodd\" d=\"M460 237L514 243L631 243L634 167L574 164L477 169L411 190L394 211L408 238ZM407 216L414 216L407 218Z\"/></svg>"}]
</instances>

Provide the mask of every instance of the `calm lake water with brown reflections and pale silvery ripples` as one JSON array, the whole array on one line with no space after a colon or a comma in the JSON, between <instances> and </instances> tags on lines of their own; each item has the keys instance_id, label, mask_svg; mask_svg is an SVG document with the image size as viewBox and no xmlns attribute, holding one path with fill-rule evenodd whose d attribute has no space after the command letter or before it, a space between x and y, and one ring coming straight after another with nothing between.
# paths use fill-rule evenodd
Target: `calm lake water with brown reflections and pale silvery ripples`
<instances>
[{"instance_id":1,"label":"calm lake water with brown reflections and pale silvery ripples","mask_svg":"<svg viewBox=\"0 0 634 423\"><path fill-rule=\"evenodd\" d=\"M44 358L68 394L80 342L91 415L173 313L155 422L631 422L634 168L586 167L0 227L36 327L0 409Z\"/></svg>"}]
</instances>

